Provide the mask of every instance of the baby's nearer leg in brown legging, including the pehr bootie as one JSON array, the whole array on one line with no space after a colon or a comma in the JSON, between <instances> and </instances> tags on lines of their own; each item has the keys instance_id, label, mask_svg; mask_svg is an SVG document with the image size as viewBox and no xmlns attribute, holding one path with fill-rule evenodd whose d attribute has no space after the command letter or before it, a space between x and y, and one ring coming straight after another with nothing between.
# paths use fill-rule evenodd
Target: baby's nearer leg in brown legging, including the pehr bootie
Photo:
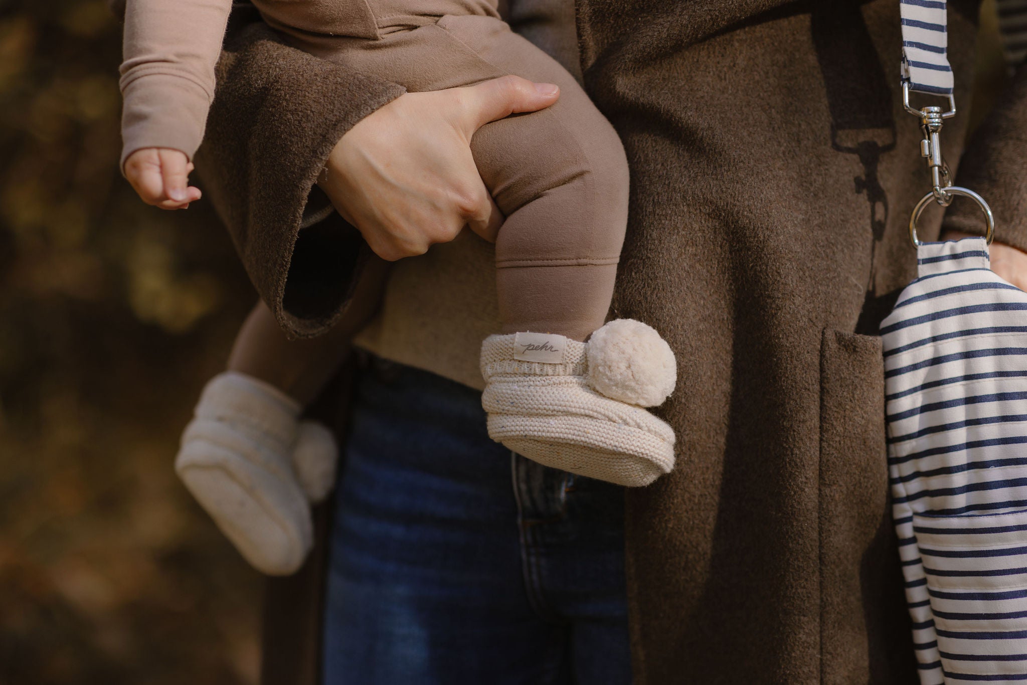
<instances>
[{"instance_id":1,"label":"baby's nearer leg in brown legging, including the pehr bootie","mask_svg":"<svg viewBox=\"0 0 1027 685\"><path fill-rule=\"evenodd\" d=\"M409 90L507 74L560 86L553 107L488 123L471 140L482 180L506 217L496 241L506 335L487 338L480 357L489 435L542 464L621 485L669 471L674 430L643 407L673 390L674 353L643 322L604 325L629 174L620 140L582 88L483 15L447 15L346 43L334 59ZM535 335L512 335L524 333Z\"/></svg>"}]
</instances>

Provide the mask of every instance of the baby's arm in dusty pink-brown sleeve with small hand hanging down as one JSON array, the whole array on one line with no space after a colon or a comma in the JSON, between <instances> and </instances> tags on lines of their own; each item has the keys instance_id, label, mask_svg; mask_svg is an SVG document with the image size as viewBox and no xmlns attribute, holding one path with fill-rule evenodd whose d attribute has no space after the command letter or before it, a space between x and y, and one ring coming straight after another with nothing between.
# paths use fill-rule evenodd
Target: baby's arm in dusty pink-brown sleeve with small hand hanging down
<instances>
[{"instance_id":1,"label":"baby's arm in dusty pink-brown sleeve with small hand hanging down","mask_svg":"<svg viewBox=\"0 0 1027 685\"><path fill-rule=\"evenodd\" d=\"M173 210L199 199L192 156L214 99L231 0L128 0L121 65L121 167L140 196Z\"/></svg>"}]
</instances>

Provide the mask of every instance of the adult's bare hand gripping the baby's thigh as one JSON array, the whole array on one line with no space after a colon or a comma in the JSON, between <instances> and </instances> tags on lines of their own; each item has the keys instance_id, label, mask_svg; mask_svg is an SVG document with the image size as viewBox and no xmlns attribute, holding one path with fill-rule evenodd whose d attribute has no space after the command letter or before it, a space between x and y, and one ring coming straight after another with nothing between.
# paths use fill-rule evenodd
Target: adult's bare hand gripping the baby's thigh
<instances>
[{"instance_id":1,"label":"adult's bare hand gripping the baby's thigh","mask_svg":"<svg viewBox=\"0 0 1027 685\"><path fill-rule=\"evenodd\" d=\"M423 255L464 226L494 241L503 217L470 139L489 121L544 109L559 97L551 83L517 76L405 93L342 137L317 183L382 259Z\"/></svg>"}]
</instances>

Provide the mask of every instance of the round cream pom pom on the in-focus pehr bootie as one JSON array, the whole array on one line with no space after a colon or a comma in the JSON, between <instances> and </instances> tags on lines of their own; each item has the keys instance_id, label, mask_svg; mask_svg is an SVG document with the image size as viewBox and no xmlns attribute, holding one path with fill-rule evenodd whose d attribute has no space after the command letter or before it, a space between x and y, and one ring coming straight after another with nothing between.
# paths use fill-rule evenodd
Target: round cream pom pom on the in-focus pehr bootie
<instances>
[{"instance_id":1,"label":"round cream pom pom on the in-focus pehr bootie","mask_svg":"<svg viewBox=\"0 0 1027 685\"><path fill-rule=\"evenodd\" d=\"M674 352L651 326L618 318L593 333L587 345L588 384L607 397L655 407L674 392Z\"/></svg>"}]
</instances>

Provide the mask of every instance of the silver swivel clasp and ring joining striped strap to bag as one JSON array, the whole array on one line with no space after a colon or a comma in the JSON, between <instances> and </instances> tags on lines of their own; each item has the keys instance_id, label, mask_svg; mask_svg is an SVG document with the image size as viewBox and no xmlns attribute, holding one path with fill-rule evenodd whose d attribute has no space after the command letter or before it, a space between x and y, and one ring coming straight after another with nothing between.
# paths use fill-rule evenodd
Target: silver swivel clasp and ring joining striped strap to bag
<instances>
[{"instance_id":1,"label":"silver swivel clasp and ring joining striped strap to bag","mask_svg":"<svg viewBox=\"0 0 1027 685\"><path fill-rule=\"evenodd\" d=\"M913 215L909 219L910 240L913 241L914 245L920 245L920 241L916 237L916 222L930 200L935 200L942 206L948 206L952 204L955 196L959 195L974 200L984 212L984 219L988 228L985 237L988 244L991 244L991 239L995 234L995 218L991 213L991 207L988 206L983 197L973 190L952 185L952 174L949 170L948 163L945 161L945 157L942 155L942 126L945 123L945 119L951 119L956 115L955 98L949 93L949 109L947 111L942 107L935 106L916 109L909 104L909 82L903 82L902 104L907 112L920 120L920 130L923 132L923 140L920 141L920 155L927 160L927 168L930 169L931 185L930 192L916 203Z\"/></svg>"}]
</instances>

